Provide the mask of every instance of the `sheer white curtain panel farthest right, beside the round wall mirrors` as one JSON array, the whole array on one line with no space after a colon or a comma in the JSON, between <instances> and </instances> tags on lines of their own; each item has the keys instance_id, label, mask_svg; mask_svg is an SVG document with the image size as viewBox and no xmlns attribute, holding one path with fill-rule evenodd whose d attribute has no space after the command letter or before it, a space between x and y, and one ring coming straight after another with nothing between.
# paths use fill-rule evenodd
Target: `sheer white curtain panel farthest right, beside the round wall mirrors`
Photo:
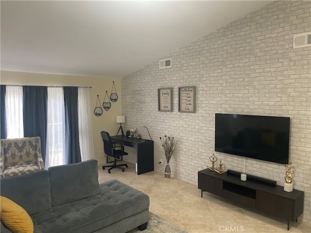
<instances>
[{"instance_id":1,"label":"sheer white curtain panel farthest right, beside the round wall mirrors","mask_svg":"<svg viewBox=\"0 0 311 233\"><path fill-rule=\"evenodd\" d=\"M81 160L94 158L90 88L78 88L79 143Z\"/></svg>"}]
</instances>

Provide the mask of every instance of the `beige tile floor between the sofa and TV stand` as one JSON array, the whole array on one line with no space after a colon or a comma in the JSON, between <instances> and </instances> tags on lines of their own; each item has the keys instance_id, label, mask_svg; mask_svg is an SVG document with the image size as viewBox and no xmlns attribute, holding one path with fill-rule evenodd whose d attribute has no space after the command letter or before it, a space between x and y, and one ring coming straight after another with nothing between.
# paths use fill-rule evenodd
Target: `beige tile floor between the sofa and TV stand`
<instances>
[{"instance_id":1,"label":"beige tile floor between the sofa and TV stand","mask_svg":"<svg viewBox=\"0 0 311 233\"><path fill-rule=\"evenodd\" d=\"M124 161L122 161L123 163ZM120 162L121 163L121 162ZM234 203L204 192L197 185L176 178L166 179L158 172L136 175L135 165L128 163L121 169L102 169L99 166L99 182L116 179L130 185L150 197L150 212L177 225L188 233L310 233L311 226L298 218L290 223L243 209Z\"/></svg>"}]
</instances>

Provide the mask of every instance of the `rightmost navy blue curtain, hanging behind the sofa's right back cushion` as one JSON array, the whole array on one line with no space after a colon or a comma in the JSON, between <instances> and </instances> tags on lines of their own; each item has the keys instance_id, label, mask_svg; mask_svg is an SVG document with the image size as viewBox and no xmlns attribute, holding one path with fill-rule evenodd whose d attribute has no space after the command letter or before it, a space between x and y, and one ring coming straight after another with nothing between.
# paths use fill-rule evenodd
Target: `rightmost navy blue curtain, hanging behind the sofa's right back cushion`
<instances>
[{"instance_id":1,"label":"rightmost navy blue curtain, hanging behind the sofa's right back cushion","mask_svg":"<svg viewBox=\"0 0 311 233\"><path fill-rule=\"evenodd\" d=\"M64 86L65 100L65 162L81 162L78 122L78 87Z\"/></svg>"}]
</instances>

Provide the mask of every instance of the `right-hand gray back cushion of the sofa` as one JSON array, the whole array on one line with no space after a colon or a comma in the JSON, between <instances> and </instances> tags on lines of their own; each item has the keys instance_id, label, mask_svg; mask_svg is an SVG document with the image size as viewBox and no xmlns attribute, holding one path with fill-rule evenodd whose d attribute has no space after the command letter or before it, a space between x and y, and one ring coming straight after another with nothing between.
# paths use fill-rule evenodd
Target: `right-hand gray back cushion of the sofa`
<instances>
[{"instance_id":1,"label":"right-hand gray back cushion of the sofa","mask_svg":"<svg viewBox=\"0 0 311 233\"><path fill-rule=\"evenodd\" d=\"M99 194L97 160L49 167L52 206Z\"/></svg>"}]
</instances>

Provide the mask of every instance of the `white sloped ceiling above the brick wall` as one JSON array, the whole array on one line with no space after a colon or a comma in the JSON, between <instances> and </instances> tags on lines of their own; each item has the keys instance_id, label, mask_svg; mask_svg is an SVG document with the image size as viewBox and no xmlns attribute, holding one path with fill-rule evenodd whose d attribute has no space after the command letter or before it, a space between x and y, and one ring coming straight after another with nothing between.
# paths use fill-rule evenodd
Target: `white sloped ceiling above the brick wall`
<instances>
[{"instance_id":1,"label":"white sloped ceiling above the brick wall","mask_svg":"<svg viewBox=\"0 0 311 233\"><path fill-rule=\"evenodd\" d=\"M122 78L271 2L1 0L1 70Z\"/></svg>"}]
</instances>

